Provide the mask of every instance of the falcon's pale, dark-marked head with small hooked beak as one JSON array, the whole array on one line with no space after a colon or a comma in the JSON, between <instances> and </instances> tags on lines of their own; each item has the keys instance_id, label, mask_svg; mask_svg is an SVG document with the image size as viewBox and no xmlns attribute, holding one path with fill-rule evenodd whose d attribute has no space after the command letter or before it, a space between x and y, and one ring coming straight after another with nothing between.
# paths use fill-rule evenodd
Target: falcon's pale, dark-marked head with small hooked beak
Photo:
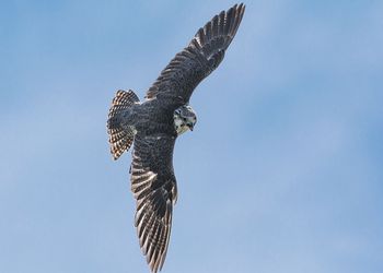
<instances>
[{"instance_id":1,"label":"falcon's pale, dark-marked head with small hooked beak","mask_svg":"<svg viewBox=\"0 0 383 273\"><path fill-rule=\"evenodd\" d=\"M197 122L196 112L193 110L192 106L183 105L177 108L173 114L174 128L177 134L182 134L187 130L193 131L194 126Z\"/></svg>"}]
</instances>

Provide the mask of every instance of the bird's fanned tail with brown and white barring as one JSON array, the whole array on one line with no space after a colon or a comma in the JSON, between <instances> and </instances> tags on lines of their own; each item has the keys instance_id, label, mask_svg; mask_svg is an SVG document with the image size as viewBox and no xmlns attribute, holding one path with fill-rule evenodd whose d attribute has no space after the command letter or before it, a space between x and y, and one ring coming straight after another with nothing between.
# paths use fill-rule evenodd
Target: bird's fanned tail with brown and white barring
<instances>
[{"instance_id":1,"label":"bird's fanned tail with brown and white barring","mask_svg":"<svg viewBox=\"0 0 383 273\"><path fill-rule=\"evenodd\" d=\"M111 153L115 161L129 150L135 138L134 129L123 126L121 114L139 102L140 99L131 90L119 90L113 98L107 120L107 133L109 134Z\"/></svg>"}]
</instances>

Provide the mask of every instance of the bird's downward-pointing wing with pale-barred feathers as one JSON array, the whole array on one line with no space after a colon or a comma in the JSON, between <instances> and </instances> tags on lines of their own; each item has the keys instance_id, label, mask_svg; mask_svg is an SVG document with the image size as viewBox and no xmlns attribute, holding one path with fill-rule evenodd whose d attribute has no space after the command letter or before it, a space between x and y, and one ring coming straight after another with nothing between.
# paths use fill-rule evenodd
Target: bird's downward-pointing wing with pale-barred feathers
<instances>
[{"instance_id":1,"label":"bird's downward-pointing wing with pale-barred feathers","mask_svg":"<svg viewBox=\"0 0 383 273\"><path fill-rule=\"evenodd\" d=\"M173 171L175 138L166 134L135 136L131 191L137 200L135 225L140 247L152 272L161 270L177 198Z\"/></svg>"}]
</instances>

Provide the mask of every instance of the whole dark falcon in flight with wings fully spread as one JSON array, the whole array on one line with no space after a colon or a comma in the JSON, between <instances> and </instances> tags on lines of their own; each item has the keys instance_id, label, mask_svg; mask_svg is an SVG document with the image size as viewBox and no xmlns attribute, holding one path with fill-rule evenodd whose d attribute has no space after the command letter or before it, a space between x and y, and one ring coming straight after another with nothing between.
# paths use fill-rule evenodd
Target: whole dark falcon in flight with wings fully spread
<instances>
[{"instance_id":1,"label":"whole dark falcon in flight with wings fully spread","mask_svg":"<svg viewBox=\"0 0 383 273\"><path fill-rule=\"evenodd\" d=\"M137 201L135 226L150 270L165 261L177 200L173 150L177 136L197 122L189 99L196 86L222 61L240 26L245 5L235 4L199 28L189 45L162 70L146 99L117 91L107 120L111 153L117 159L134 144L131 191Z\"/></svg>"}]
</instances>

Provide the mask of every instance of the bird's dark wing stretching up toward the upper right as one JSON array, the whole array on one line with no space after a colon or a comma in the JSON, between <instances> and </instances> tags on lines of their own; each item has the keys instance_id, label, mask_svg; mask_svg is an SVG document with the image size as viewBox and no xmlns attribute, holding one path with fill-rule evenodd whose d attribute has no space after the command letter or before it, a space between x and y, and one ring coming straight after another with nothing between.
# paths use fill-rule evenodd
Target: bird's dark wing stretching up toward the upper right
<instances>
[{"instance_id":1,"label":"bird's dark wing stretching up toward the upper right","mask_svg":"<svg viewBox=\"0 0 383 273\"><path fill-rule=\"evenodd\" d=\"M161 72L146 97L177 97L187 103L194 88L222 61L244 12L243 3L235 4L199 28L190 44Z\"/></svg>"}]
</instances>

